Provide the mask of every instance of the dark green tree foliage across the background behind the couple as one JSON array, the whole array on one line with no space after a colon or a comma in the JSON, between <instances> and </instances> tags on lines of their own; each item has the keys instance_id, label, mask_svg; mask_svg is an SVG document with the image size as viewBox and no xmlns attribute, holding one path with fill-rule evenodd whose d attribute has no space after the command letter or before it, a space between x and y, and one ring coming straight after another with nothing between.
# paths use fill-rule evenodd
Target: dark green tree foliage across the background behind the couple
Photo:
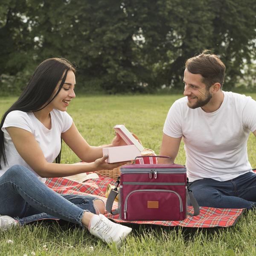
<instances>
[{"instance_id":1,"label":"dark green tree foliage across the background behind the couple","mask_svg":"<svg viewBox=\"0 0 256 256\"><path fill-rule=\"evenodd\" d=\"M64 57L83 91L180 89L186 59L212 49L230 89L256 58L255 11L250 0L3 0L0 75Z\"/></svg>"}]
</instances>

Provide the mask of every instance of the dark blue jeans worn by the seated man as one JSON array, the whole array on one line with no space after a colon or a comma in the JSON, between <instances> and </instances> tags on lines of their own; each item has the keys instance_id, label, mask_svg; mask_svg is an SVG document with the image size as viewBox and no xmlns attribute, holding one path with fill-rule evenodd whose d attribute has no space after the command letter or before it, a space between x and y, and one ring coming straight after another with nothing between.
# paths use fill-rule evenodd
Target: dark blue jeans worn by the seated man
<instances>
[{"instance_id":1,"label":"dark blue jeans worn by the seated man","mask_svg":"<svg viewBox=\"0 0 256 256\"><path fill-rule=\"evenodd\" d=\"M189 182L199 206L216 208L247 208L256 204L256 174L247 172L232 180L209 178Z\"/></svg>"}]
</instances>

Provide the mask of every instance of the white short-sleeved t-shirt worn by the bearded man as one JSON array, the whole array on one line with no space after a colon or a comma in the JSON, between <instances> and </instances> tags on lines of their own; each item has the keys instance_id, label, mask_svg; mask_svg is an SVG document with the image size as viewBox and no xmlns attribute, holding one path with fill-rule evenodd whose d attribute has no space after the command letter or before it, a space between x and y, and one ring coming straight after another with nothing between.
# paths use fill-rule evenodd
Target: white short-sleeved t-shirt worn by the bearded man
<instances>
[{"instance_id":1,"label":"white short-sleeved t-shirt worn by the bearded man","mask_svg":"<svg viewBox=\"0 0 256 256\"><path fill-rule=\"evenodd\" d=\"M187 98L175 101L163 132L183 136L189 181L230 180L252 172L247 156L250 131L256 130L256 101L250 96L223 92L221 107L212 113L191 109Z\"/></svg>"}]
</instances>

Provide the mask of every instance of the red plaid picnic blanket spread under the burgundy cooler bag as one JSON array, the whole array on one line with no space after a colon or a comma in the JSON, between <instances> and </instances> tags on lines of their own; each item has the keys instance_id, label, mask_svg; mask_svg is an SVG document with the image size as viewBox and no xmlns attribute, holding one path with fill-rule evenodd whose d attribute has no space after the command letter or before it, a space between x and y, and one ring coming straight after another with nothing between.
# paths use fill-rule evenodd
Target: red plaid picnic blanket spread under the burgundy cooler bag
<instances>
[{"instance_id":1,"label":"red plaid picnic blanket spread under the burgundy cooler bag","mask_svg":"<svg viewBox=\"0 0 256 256\"><path fill-rule=\"evenodd\" d=\"M90 179L84 183L79 183L67 178L47 178L46 185L60 194L90 194L96 195L103 201L108 184L115 184L115 180L109 177L99 176L97 179ZM113 209L117 208L114 202ZM192 210L191 207L189 210ZM212 207L200 207L200 215L188 216L183 221L122 221L119 215L112 215L105 212L105 216L116 222L130 222L136 224L155 224L163 226L182 227L228 227L236 224L237 220L244 212L244 209L222 209Z\"/></svg>"}]
</instances>

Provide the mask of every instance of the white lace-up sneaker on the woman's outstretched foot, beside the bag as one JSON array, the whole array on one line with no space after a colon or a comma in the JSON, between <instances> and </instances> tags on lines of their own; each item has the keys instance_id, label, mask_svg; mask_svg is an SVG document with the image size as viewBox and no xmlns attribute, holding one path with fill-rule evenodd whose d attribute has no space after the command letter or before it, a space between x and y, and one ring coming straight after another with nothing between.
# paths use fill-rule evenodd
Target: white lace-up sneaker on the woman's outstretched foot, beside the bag
<instances>
[{"instance_id":1,"label":"white lace-up sneaker on the woman's outstretched foot, beside the bag","mask_svg":"<svg viewBox=\"0 0 256 256\"><path fill-rule=\"evenodd\" d=\"M89 231L92 235L99 237L106 243L115 242L119 246L122 240L131 233L130 227L114 223L102 214L95 217L99 217L98 221L91 224Z\"/></svg>"}]
</instances>

